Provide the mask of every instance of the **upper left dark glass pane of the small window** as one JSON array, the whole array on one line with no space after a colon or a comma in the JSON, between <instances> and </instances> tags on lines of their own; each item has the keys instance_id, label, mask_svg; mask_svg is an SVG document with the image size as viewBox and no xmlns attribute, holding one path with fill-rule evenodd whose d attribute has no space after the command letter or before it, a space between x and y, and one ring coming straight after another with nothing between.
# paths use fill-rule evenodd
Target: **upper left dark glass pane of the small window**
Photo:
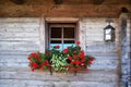
<instances>
[{"instance_id":1,"label":"upper left dark glass pane of the small window","mask_svg":"<svg viewBox=\"0 0 131 87\"><path fill-rule=\"evenodd\" d=\"M61 27L51 27L51 38L61 38Z\"/></svg>"}]
</instances>

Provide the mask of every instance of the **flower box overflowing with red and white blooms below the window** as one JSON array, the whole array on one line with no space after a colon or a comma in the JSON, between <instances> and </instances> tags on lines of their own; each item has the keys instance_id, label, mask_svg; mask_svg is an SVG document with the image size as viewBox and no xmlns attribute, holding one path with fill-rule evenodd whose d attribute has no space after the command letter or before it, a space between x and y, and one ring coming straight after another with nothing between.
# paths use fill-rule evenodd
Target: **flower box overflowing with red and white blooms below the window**
<instances>
[{"instance_id":1,"label":"flower box overflowing with red and white blooms below the window","mask_svg":"<svg viewBox=\"0 0 131 87\"><path fill-rule=\"evenodd\" d=\"M87 72L87 67L95 60L92 55L85 55L80 47L80 41L62 51L59 48L60 46L55 46L51 50L47 50L46 53L31 53L27 59L32 71L49 70L50 74L52 74L52 71L67 73L73 71L74 75L76 75L78 71Z\"/></svg>"}]
</instances>

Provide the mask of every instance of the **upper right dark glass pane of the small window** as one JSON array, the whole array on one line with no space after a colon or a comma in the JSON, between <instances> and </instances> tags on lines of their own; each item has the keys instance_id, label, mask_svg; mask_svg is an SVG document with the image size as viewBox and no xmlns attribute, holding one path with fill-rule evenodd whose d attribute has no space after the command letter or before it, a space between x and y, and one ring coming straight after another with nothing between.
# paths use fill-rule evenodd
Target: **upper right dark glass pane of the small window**
<instances>
[{"instance_id":1,"label":"upper right dark glass pane of the small window","mask_svg":"<svg viewBox=\"0 0 131 87\"><path fill-rule=\"evenodd\" d=\"M74 38L74 28L73 27L64 27L63 28L63 38Z\"/></svg>"}]
</instances>

